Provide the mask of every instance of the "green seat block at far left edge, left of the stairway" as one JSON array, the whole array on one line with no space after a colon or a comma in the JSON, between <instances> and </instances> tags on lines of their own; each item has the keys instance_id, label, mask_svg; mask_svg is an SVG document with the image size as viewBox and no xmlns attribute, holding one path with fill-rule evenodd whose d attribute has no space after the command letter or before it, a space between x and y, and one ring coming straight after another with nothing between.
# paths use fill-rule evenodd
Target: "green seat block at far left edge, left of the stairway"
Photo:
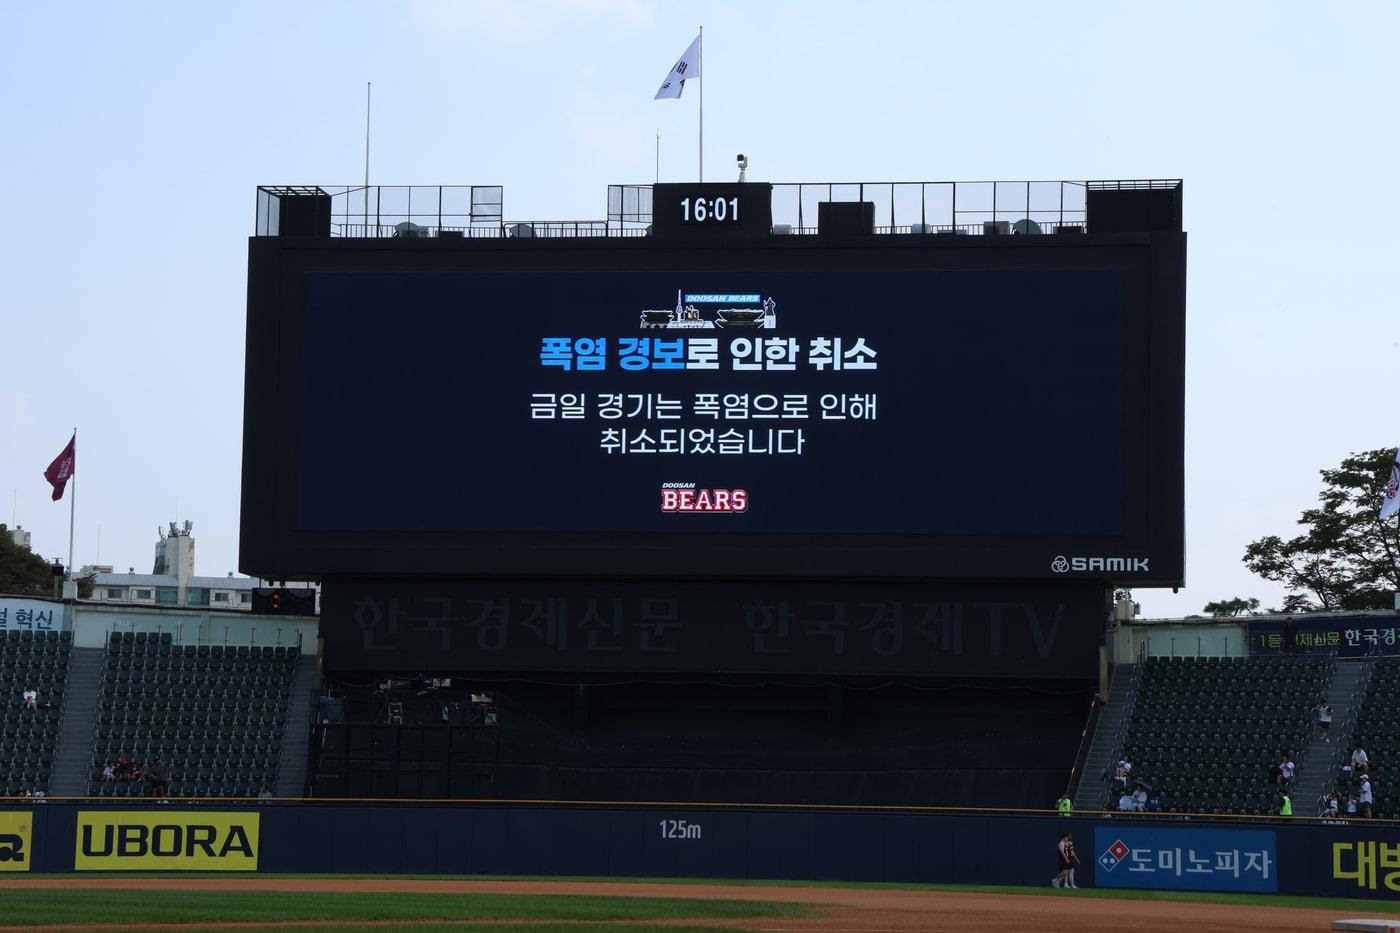
<instances>
[{"instance_id":1,"label":"green seat block at far left edge, left of the stairway","mask_svg":"<svg viewBox=\"0 0 1400 933\"><path fill-rule=\"evenodd\" d=\"M7 797L49 789L71 649L70 632L0 632L0 789ZM38 691L41 709L24 709L28 688Z\"/></svg>"}]
</instances>

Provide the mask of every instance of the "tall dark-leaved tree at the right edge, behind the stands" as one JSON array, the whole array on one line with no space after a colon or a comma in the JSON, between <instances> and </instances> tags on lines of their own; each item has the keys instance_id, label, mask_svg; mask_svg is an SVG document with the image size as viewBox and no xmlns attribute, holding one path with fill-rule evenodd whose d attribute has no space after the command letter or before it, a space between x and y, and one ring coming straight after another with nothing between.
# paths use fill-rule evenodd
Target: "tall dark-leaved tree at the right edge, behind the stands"
<instances>
[{"instance_id":1,"label":"tall dark-leaved tree at the right edge, behind the stands","mask_svg":"<svg viewBox=\"0 0 1400 933\"><path fill-rule=\"evenodd\" d=\"M1352 454L1323 469L1320 506L1303 511L1303 534L1260 538L1245 549L1245 566L1289 594L1284 612L1389 609L1400 590L1400 537L1380 521L1380 490L1394 448Z\"/></svg>"}]
</instances>

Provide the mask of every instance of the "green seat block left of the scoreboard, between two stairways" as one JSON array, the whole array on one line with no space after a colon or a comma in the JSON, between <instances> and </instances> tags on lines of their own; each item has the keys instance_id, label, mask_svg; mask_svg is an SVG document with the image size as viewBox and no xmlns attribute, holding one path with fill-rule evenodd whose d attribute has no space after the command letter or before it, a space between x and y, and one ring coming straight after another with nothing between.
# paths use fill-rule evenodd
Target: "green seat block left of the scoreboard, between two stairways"
<instances>
[{"instance_id":1,"label":"green seat block left of the scoreboard, between two stairways","mask_svg":"<svg viewBox=\"0 0 1400 933\"><path fill-rule=\"evenodd\" d=\"M104 783L125 755L171 766L171 796L253 797L272 785L297 670L295 647L172 644L169 633L113 632L102 664L90 796L139 796Z\"/></svg>"}]
</instances>

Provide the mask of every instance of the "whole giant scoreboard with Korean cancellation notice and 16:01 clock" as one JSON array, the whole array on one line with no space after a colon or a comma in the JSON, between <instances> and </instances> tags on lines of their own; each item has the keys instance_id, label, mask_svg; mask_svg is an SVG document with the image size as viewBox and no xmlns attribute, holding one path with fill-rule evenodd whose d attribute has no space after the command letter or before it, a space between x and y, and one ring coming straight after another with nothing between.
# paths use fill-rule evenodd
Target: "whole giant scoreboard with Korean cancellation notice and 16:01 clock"
<instances>
[{"instance_id":1,"label":"whole giant scoreboard with Korean cancellation notice and 16:01 clock","mask_svg":"<svg viewBox=\"0 0 1400 933\"><path fill-rule=\"evenodd\" d=\"M1182 581L1184 234L661 188L675 235L252 238L241 569Z\"/></svg>"}]
</instances>

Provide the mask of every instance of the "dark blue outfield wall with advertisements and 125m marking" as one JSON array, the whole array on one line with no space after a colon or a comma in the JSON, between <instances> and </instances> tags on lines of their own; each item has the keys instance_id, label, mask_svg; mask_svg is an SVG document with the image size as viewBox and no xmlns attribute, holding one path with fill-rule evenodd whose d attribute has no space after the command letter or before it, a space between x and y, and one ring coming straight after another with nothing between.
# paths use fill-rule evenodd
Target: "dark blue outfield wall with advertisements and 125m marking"
<instances>
[{"instance_id":1,"label":"dark blue outfield wall with advertisements and 125m marking","mask_svg":"<svg viewBox=\"0 0 1400 933\"><path fill-rule=\"evenodd\" d=\"M715 877L1400 898L1394 825L578 804L0 804L0 873Z\"/></svg>"}]
</instances>

